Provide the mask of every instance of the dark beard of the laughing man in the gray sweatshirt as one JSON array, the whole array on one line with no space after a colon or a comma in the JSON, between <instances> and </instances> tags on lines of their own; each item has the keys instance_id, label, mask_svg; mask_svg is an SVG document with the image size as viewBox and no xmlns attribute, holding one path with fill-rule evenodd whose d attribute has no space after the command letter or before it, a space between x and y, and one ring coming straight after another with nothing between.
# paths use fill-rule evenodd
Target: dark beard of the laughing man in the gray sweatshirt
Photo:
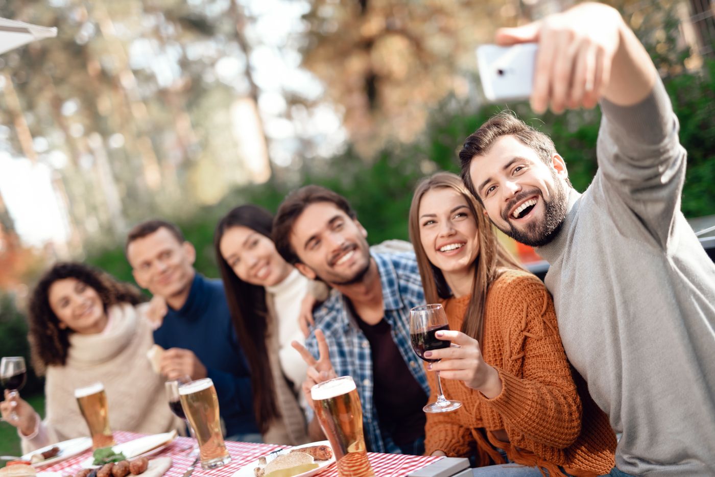
<instances>
[{"instance_id":1,"label":"dark beard of the laughing man in the gray sweatshirt","mask_svg":"<svg viewBox=\"0 0 715 477\"><path fill-rule=\"evenodd\" d=\"M563 185L563 182L556 177L554 178L553 185L554 189L551 200L547 201L543 197L541 190L525 191L514 197L508 207L504 209L505 213L508 213L513 205L516 205L517 202L527 197L531 197L536 192L541 196L543 202L543 219L541 221L534 220L526 225L526 230L519 230L511 223L508 217L502 215L502 219L509 227L504 230L497 225L497 228L517 242L529 245L530 247L541 247L551 242L551 240L556 237L556 234L558 234L558 231L561 230L563 220L568 213L566 187Z\"/></svg>"}]
</instances>

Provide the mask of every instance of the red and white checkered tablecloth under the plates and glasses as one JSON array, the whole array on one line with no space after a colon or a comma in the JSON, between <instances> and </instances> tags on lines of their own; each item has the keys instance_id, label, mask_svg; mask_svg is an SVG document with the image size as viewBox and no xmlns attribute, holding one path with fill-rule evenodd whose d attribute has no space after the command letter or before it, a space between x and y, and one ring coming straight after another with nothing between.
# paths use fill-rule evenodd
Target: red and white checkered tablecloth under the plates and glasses
<instances>
[{"instance_id":1,"label":"red and white checkered tablecloth under the plates and glasses","mask_svg":"<svg viewBox=\"0 0 715 477\"><path fill-rule=\"evenodd\" d=\"M142 437L142 434L117 431L114 432L114 441L117 443L132 441ZM179 437L174 439L174 441L163 451L154 454L154 457L171 457L172 467L169 471L164 474L165 477L182 477L187 468L191 466L194 458L189 457L189 450L193 446L194 441L189 438ZM260 456L265 456L271 451L275 451L280 448L286 448L287 446L275 446L273 444L253 444L246 442L233 442L226 441L226 448L231 454L232 461L226 466L212 469L210 471L204 471L200 464L194 469L192 477L230 477L238 471L243 466L252 463ZM48 466L46 468L40 469L41 471L48 472L60 472L63 476L71 476L82 469L80 464L82 461L86 460L89 456L92 456L92 451L79 454L73 458L69 458L66 461L61 461L54 466ZM380 453L368 453L368 459L370 459L370 464L373 466L373 471L375 471L375 476L378 477L403 477L412 471L416 471L418 468L423 468L434 461L437 461L441 457L431 457L431 456L404 456L400 454L380 454ZM333 463L327 466L324 471L317 474L320 477L337 477L337 466Z\"/></svg>"}]
</instances>

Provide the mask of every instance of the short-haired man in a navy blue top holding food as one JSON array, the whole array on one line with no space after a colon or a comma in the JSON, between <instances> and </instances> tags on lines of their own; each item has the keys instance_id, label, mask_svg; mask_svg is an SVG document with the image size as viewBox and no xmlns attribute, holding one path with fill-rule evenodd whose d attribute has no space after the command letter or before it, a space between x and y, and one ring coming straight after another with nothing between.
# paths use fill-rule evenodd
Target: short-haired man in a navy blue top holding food
<instances>
[{"instance_id":1,"label":"short-haired man in a navy blue top holding food","mask_svg":"<svg viewBox=\"0 0 715 477\"><path fill-rule=\"evenodd\" d=\"M238 344L221 280L194 270L196 250L176 225L149 220L127 236L127 260L139 286L166 303L154 341L165 348L160 368L167 379L211 378L227 438L260 442L250 370Z\"/></svg>"}]
</instances>

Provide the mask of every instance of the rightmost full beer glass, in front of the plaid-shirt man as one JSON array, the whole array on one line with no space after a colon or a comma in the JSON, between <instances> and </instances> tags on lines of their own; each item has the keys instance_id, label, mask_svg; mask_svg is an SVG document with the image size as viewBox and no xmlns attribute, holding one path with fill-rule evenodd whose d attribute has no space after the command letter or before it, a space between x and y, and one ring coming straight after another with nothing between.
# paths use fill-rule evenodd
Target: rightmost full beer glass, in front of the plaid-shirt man
<instances>
[{"instance_id":1,"label":"rightmost full beer glass, in front of the plaid-shirt man","mask_svg":"<svg viewBox=\"0 0 715 477\"><path fill-rule=\"evenodd\" d=\"M342 376L310 389L315 415L330 441L340 477L372 477L363 436L363 408L355 381Z\"/></svg>"}]
</instances>

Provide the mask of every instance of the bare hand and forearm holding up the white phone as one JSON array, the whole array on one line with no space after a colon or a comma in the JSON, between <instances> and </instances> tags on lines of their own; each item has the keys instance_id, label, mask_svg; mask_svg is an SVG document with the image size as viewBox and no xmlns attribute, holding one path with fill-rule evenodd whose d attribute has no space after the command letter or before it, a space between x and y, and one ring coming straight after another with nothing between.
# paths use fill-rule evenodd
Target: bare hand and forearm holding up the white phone
<instances>
[{"instance_id":1,"label":"bare hand and forearm holding up the white phone","mask_svg":"<svg viewBox=\"0 0 715 477\"><path fill-rule=\"evenodd\" d=\"M516 28L499 29L501 45L538 42L531 107L553 112L592 108L602 98L638 104L656 81L646 49L611 6L583 3Z\"/></svg>"}]
</instances>

